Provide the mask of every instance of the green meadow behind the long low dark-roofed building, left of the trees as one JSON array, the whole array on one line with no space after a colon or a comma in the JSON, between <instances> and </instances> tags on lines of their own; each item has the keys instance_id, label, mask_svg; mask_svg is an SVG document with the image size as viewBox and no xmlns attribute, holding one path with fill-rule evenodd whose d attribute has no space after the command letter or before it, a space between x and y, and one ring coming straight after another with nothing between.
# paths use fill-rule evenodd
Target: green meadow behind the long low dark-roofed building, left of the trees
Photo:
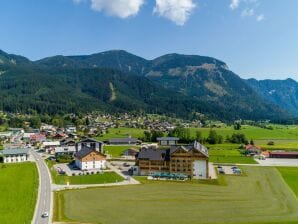
<instances>
[{"instance_id":1,"label":"green meadow behind the long low dark-roofed building, left of the trees","mask_svg":"<svg viewBox=\"0 0 298 224\"><path fill-rule=\"evenodd\" d=\"M97 140L107 141L111 138L127 138L129 136L133 138L142 138L144 136L144 129L139 128L109 128L108 133L102 137L97 137Z\"/></svg>"}]
</instances>

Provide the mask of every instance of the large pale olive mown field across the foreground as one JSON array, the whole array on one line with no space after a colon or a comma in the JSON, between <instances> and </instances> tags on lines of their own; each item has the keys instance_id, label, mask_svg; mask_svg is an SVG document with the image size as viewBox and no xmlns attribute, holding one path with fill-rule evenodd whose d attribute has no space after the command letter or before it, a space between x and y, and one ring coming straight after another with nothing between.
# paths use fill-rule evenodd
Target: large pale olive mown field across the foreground
<instances>
[{"instance_id":1,"label":"large pale olive mown field across the foreground","mask_svg":"<svg viewBox=\"0 0 298 224\"><path fill-rule=\"evenodd\" d=\"M227 185L146 181L58 192L54 217L102 224L297 223L298 201L276 168L242 169L247 175L225 176Z\"/></svg>"}]
</instances>

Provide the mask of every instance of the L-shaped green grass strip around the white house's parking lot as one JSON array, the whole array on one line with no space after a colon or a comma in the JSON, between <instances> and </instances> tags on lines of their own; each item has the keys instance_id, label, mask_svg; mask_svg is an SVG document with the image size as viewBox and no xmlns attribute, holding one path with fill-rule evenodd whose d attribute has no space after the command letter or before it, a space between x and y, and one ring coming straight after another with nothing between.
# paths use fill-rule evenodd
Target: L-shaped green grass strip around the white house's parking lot
<instances>
[{"instance_id":1,"label":"L-shaped green grass strip around the white house's parking lot","mask_svg":"<svg viewBox=\"0 0 298 224\"><path fill-rule=\"evenodd\" d=\"M65 185L69 183L70 185L81 185L81 184L108 184L121 182L124 180L123 177L119 176L115 172L104 172L102 174L89 174L80 176L67 176L60 175L54 169L54 162L46 160L46 163L50 169L52 180L55 184Z\"/></svg>"}]
</instances>

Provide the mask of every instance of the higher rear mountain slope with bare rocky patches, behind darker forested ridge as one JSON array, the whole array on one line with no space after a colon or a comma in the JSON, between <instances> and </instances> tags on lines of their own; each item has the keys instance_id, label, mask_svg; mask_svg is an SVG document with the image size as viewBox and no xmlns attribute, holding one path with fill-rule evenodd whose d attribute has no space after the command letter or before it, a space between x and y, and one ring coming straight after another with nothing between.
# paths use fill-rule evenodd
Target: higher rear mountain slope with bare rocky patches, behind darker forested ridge
<instances>
[{"instance_id":1,"label":"higher rear mountain slope with bare rocky patches, behind darker forested ridge","mask_svg":"<svg viewBox=\"0 0 298 224\"><path fill-rule=\"evenodd\" d=\"M58 62L57 62L58 61ZM147 77L160 86L199 102L200 111L221 119L279 119L286 112L265 102L244 80L215 58L168 54L146 60L125 51L90 56L46 58L36 62L47 68L113 68Z\"/></svg>"}]
</instances>

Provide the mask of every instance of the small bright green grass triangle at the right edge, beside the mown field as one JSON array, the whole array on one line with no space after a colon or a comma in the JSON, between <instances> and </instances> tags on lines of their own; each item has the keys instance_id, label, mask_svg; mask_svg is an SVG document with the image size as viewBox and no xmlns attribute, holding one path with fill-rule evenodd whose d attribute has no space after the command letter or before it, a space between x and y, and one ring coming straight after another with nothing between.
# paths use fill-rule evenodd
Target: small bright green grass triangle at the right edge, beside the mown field
<instances>
[{"instance_id":1,"label":"small bright green grass triangle at the right edge, beside the mown field","mask_svg":"<svg viewBox=\"0 0 298 224\"><path fill-rule=\"evenodd\" d=\"M298 167L278 167L277 169L298 197Z\"/></svg>"}]
</instances>

